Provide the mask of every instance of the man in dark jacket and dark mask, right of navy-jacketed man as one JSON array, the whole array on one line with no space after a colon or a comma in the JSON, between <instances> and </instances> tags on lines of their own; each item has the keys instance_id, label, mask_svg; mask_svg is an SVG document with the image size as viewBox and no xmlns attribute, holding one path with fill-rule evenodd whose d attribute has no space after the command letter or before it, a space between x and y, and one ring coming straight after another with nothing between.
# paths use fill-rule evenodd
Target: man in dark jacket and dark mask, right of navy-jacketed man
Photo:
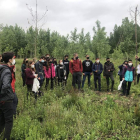
<instances>
[{"instance_id":1,"label":"man in dark jacket and dark mask, right of navy-jacketed man","mask_svg":"<svg viewBox=\"0 0 140 140\"><path fill-rule=\"evenodd\" d=\"M113 91L113 87L114 87L113 71L114 70L115 70L114 64L112 62L110 62L110 58L107 58L106 62L104 64L104 76L106 77L107 91L109 91L109 78L112 81L111 91Z\"/></svg>"}]
</instances>

